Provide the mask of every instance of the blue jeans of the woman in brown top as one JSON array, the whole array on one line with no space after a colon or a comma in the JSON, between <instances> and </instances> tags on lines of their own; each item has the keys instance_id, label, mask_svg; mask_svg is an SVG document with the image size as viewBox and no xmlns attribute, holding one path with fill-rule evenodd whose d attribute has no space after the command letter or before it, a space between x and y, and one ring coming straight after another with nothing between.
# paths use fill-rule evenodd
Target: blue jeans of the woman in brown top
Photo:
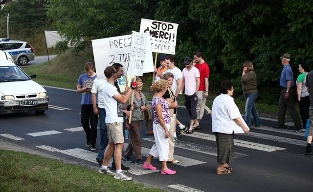
<instances>
[{"instance_id":1,"label":"blue jeans of the woman in brown top","mask_svg":"<svg viewBox=\"0 0 313 192\"><path fill-rule=\"evenodd\" d=\"M258 112L256 111L255 104L254 104L257 97L258 97L258 93L245 94L245 98L246 98L245 122L249 128L251 126L251 115L253 116L253 119L254 119L253 125L255 126L261 125L261 119L259 117Z\"/></svg>"}]
</instances>

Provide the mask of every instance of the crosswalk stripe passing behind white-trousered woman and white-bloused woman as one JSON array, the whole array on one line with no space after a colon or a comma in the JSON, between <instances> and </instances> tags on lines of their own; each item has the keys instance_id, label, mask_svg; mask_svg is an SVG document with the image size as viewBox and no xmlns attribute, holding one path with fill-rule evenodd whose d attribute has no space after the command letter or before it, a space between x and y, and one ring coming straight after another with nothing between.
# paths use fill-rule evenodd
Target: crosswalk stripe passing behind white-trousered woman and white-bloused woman
<instances>
[{"instance_id":1,"label":"crosswalk stripe passing behind white-trousered woman and white-bloused woman","mask_svg":"<svg viewBox=\"0 0 313 192\"><path fill-rule=\"evenodd\" d=\"M148 137L148 138L143 138L143 139L147 141L155 142L154 137ZM202 154L209 154L209 155L217 156L217 149L213 147L209 147L209 146L189 143L185 141L179 141L175 143L175 147L193 151L193 152L202 153ZM244 156L248 156L248 155L235 152L235 158L244 157Z\"/></svg>"}]
</instances>

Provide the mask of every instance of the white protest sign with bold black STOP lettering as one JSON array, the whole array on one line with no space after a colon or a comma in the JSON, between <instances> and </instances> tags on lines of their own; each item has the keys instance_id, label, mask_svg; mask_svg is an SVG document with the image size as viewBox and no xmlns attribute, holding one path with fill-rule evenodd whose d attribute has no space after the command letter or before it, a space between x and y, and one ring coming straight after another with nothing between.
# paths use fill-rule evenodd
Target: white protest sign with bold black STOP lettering
<instances>
[{"instance_id":1,"label":"white protest sign with bold black STOP lettering","mask_svg":"<svg viewBox=\"0 0 313 192\"><path fill-rule=\"evenodd\" d=\"M141 19L140 33L147 33L151 39L151 50L156 53L175 55L177 23Z\"/></svg>"}]
</instances>

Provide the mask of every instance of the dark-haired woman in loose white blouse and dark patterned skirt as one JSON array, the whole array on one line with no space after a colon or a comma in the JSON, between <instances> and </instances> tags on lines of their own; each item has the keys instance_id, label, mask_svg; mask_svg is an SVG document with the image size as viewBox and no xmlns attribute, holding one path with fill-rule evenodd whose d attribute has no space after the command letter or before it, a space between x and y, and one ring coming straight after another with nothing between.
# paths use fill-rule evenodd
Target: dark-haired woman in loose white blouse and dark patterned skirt
<instances>
[{"instance_id":1,"label":"dark-haired woman in loose white blouse and dark patterned skirt","mask_svg":"<svg viewBox=\"0 0 313 192\"><path fill-rule=\"evenodd\" d=\"M219 163L216 173L229 174L233 171L229 163L235 159L234 134L247 134L249 128L232 97L234 84L230 80L224 80L220 91L221 95L214 99L212 105L212 132L215 133Z\"/></svg>"}]
</instances>

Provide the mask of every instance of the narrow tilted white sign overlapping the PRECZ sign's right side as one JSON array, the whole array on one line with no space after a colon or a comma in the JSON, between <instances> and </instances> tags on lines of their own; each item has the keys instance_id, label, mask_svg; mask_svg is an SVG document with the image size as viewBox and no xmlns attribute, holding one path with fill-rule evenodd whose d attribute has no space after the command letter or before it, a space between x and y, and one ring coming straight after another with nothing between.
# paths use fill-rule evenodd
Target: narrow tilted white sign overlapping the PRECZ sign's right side
<instances>
[{"instance_id":1,"label":"narrow tilted white sign overlapping the PRECZ sign's right side","mask_svg":"<svg viewBox=\"0 0 313 192\"><path fill-rule=\"evenodd\" d=\"M153 72L154 67L150 44L148 34L132 31L131 57L129 59L127 75L142 76L145 71Z\"/></svg>"}]
</instances>

